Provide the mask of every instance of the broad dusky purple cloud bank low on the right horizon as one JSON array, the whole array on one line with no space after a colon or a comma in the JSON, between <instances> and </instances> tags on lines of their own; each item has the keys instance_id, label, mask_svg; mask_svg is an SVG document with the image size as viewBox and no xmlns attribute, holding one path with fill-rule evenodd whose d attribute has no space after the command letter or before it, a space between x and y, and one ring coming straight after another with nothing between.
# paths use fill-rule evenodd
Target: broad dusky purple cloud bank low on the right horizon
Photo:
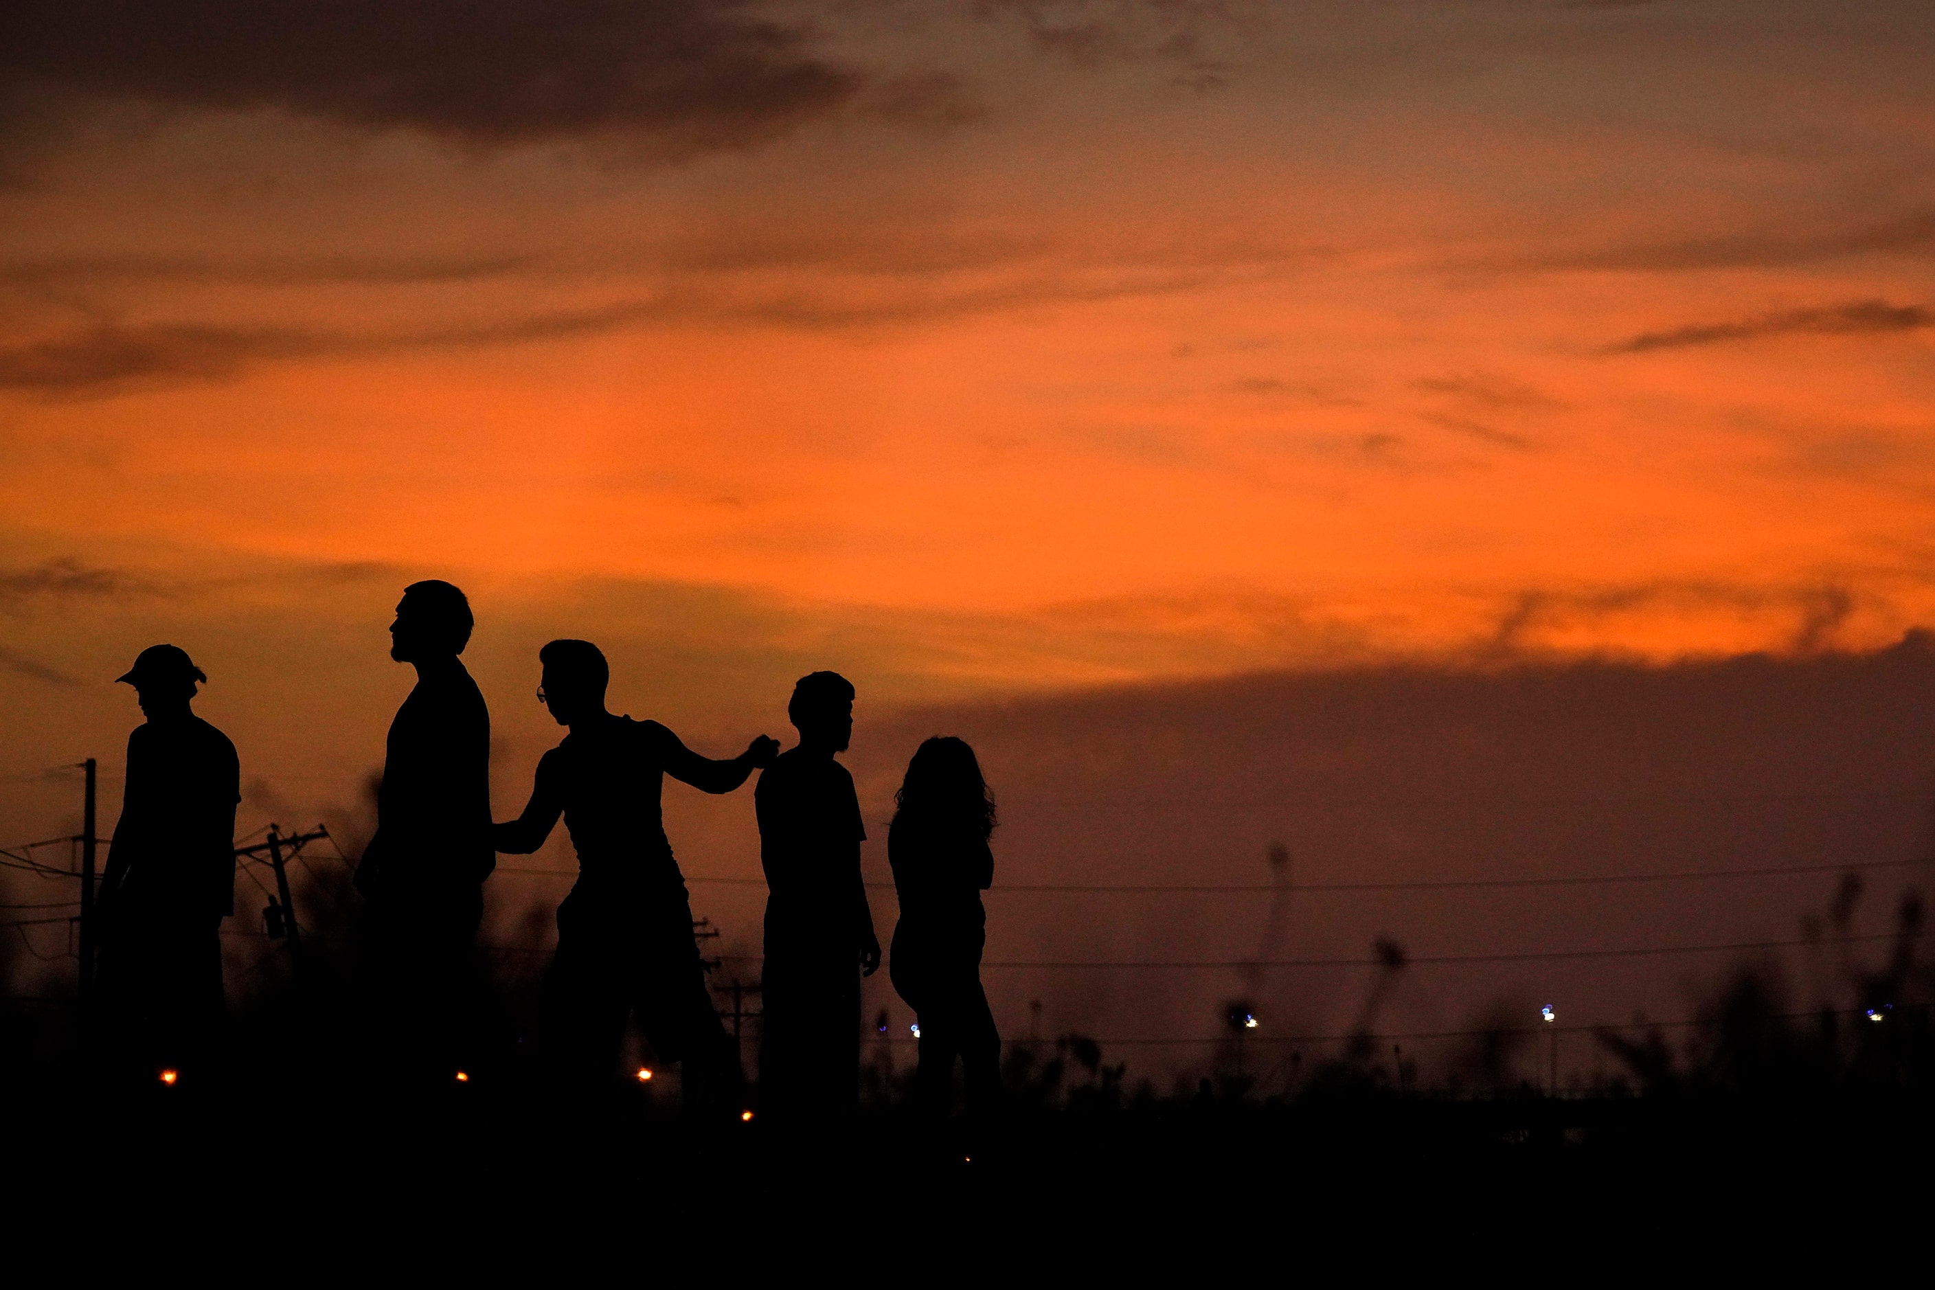
<instances>
[{"instance_id":1,"label":"broad dusky purple cloud bank low on the right horizon","mask_svg":"<svg viewBox=\"0 0 1935 1290\"><path fill-rule=\"evenodd\" d=\"M1265 934L1254 897L1049 903L1002 888L1097 874L1262 886L1273 841L1293 851L1300 884L1910 861L1925 855L1931 702L1935 652L1918 636L1869 656L1356 667L950 704L863 721L848 760L873 820L892 810L923 737L975 747L1002 805L989 959L1229 961ZM1420 955L1726 944L1792 936L1834 880L1606 884L1563 897L1331 894L1312 895L1320 903L1300 905L1291 926L1312 955L1360 955L1378 936ZM1583 1019L1676 1017L1689 977L1720 967L1672 957L1618 975L1593 961L1438 971L1430 990L1393 1000L1389 1029L1465 1029L1488 994L1511 990L1531 996L1527 1019L1544 998ZM1213 1033L1219 992L1236 982L1087 998L1066 977L987 979L997 1015L1026 1017L1045 998L1051 1015L1080 1008L1105 1035ZM1283 1033L1325 1035L1343 1033L1368 990L1362 975L1277 973L1256 1002Z\"/></svg>"}]
</instances>

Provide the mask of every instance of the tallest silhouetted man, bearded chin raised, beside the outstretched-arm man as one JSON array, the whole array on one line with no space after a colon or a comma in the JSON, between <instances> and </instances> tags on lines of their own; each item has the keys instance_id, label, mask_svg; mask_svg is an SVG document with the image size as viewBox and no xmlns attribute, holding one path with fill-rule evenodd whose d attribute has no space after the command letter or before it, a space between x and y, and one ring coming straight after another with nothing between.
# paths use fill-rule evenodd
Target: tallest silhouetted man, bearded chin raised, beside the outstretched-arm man
<instances>
[{"instance_id":1,"label":"tallest silhouetted man, bearded chin raised, beside the outstretched-arm man","mask_svg":"<svg viewBox=\"0 0 1935 1290\"><path fill-rule=\"evenodd\" d=\"M490 712L457 658L472 625L470 601L449 582L402 590L389 656L416 667L416 689L389 725L375 836L356 866L381 1041L410 1081L455 1079L476 1025L470 959L497 853Z\"/></svg>"}]
</instances>

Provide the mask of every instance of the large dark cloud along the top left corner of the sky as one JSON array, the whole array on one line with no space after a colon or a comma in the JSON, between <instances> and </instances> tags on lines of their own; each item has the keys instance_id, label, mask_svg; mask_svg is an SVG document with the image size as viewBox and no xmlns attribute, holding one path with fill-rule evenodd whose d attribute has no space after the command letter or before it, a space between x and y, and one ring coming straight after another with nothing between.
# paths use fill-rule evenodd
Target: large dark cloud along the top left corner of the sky
<instances>
[{"instance_id":1,"label":"large dark cloud along the top left corner of the sky","mask_svg":"<svg viewBox=\"0 0 1935 1290\"><path fill-rule=\"evenodd\" d=\"M863 77L753 0L14 0L0 91L284 110L470 145L766 139Z\"/></svg>"}]
</instances>

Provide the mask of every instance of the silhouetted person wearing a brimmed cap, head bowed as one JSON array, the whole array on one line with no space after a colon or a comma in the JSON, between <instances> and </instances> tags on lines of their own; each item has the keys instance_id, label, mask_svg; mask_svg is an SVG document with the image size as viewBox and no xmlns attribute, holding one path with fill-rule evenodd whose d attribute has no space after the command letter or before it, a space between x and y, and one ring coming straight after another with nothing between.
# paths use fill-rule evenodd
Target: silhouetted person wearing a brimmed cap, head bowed
<instances>
[{"instance_id":1,"label":"silhouetted person wearing a brimmed cap, head bowed","mask_svg":"<svg viewBox=\"0 0 1935 1290\"><path fill-rule=\"evenodd\" d=\"M101 1000L110 1060L153 1079L205 1070L223 1019L223 919L234 913L236 747L190 704L207 681L176 646L120 677L147 723L128 735L128 783L101 880Z\"/></svg>"}]
</instances>

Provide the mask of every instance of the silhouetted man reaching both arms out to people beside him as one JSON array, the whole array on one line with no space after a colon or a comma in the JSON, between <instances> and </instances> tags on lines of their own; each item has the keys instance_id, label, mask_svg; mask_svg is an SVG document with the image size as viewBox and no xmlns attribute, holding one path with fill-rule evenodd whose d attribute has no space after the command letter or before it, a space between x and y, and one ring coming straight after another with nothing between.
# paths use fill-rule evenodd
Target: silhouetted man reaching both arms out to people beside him
<instances>
[{"instance_id":1,"label":"silhouetted man reaching both arms out to people beside him","mask_svg":"<svg viewBox=\"0 0 1935 1290\"><path fill-rule=\"evenodd\" d=\"M611 673L598 646L553 640L538 660L538 700L571 733L538 762L530 805L495 828L495 843L530 855L563 814L579 853L544 986L546 1064L569 1089L610 1085L625 1017L637 1015L652 1052L683 1064L689 1108L737 1110L739 1054L706 990L662 791L671 776L704 793L731 793L780 745L760 735L729 762L702 758L658 721L606 710Z\"/></svg>"}]
</instances>

